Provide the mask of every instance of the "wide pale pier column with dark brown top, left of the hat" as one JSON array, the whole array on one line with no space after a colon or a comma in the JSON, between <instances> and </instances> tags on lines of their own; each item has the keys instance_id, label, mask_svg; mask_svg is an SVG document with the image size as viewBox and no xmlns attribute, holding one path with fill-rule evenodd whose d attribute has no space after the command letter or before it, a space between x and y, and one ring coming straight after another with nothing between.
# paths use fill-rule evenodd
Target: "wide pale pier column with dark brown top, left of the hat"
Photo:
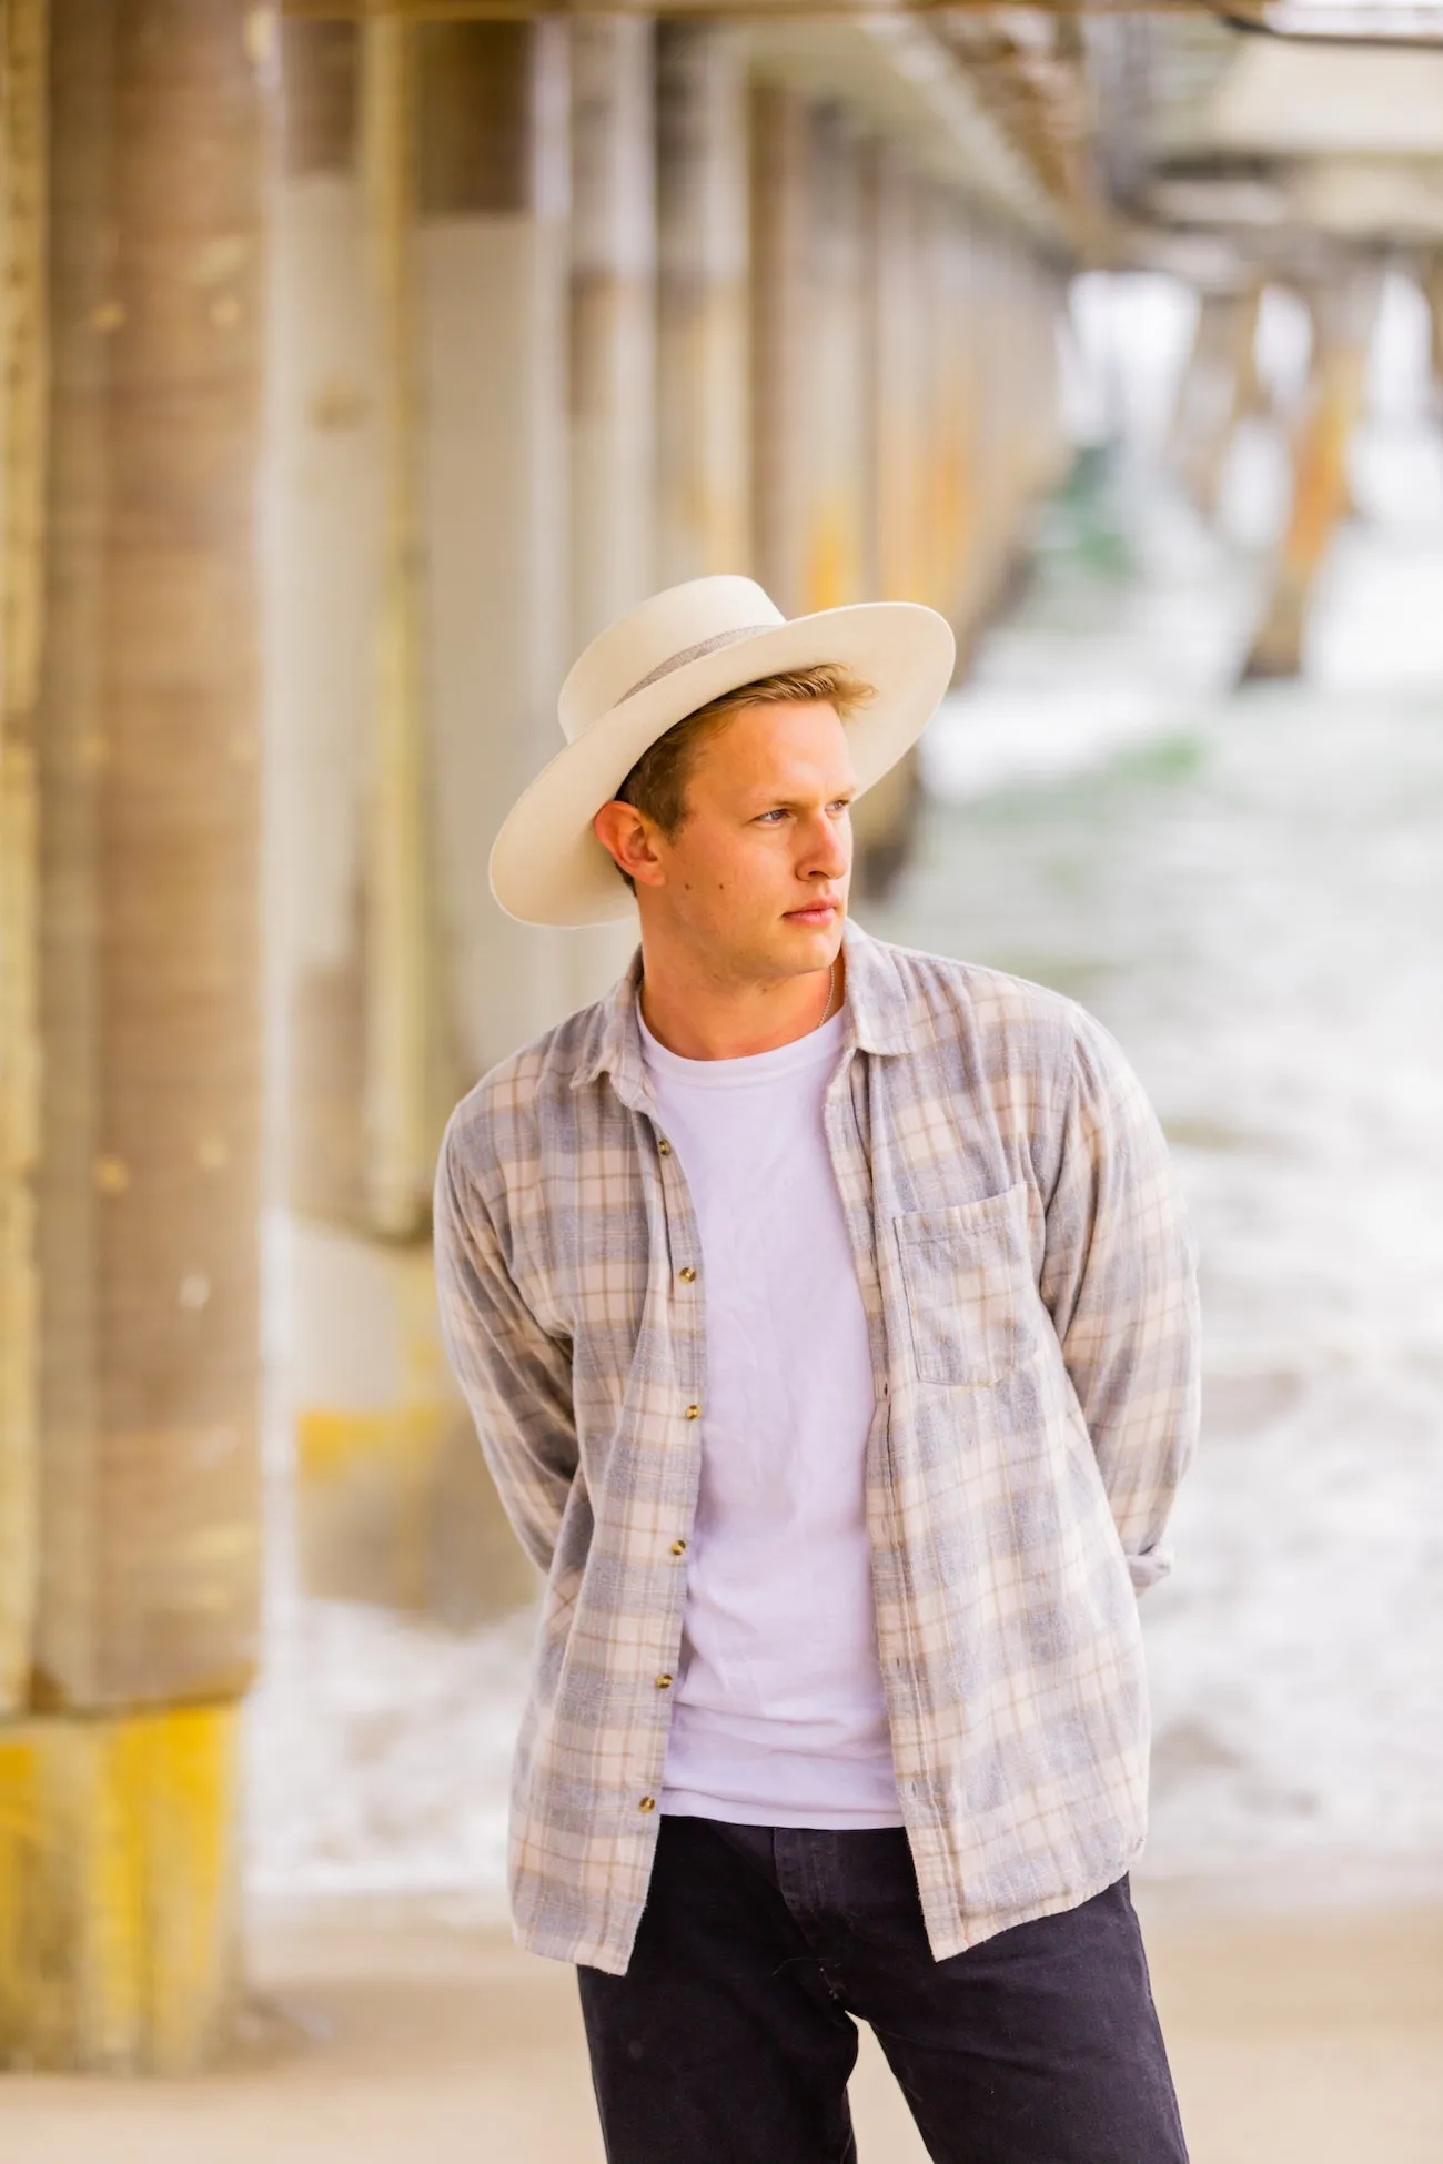
<instances>
[{"instance_id":1,"label":"wide pale pier column with dark brown top, left of the hat","mask_svg":"<svg viewBox=\"0 0 1443 2164\"><path fill-rule=\"evenodd\" d=\"M506 809L560 749L567 667L567 30L424 24L422 541L441 1006L465 1086L569 1004L562 933L487 885Z\"/></svg>"}]
</instances>

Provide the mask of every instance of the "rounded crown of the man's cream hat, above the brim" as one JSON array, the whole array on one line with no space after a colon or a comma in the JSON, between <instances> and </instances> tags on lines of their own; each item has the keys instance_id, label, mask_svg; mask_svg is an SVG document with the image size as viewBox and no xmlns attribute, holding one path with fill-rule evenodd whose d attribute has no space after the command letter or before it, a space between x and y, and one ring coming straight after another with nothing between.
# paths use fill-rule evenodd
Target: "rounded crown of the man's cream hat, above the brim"
<instances>
[{"instance_id":1,"label":"rounded crown of the man's cream hat, above the brim","mask_svg":"<svg viewBox=\"0 0 1443 2164\"><path fill-rule=\"evenodd\" d=\"M785 617L755 578L714 573L653 593L599 632L571 664L560 686L567 742L573 744L653 677L775 623L785 623Z\"/></svg>"}]
</instances>

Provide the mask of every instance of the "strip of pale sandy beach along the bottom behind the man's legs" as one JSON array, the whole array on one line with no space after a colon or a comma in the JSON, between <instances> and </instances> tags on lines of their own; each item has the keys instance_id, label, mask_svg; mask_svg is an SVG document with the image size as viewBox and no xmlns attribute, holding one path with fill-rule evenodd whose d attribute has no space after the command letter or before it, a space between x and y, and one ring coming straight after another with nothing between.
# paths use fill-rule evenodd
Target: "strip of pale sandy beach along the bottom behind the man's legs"
<instances>
[{"instance_id":1,"label":"strip of pale sandy beach along the bottom behind the man's legs","mask_svg":"<svg viewBox=\"0 0 1443 2164\"><path fill-rule=\"evenodd\" d=\"M1140 1889L1138 1906L1194 2164L1437 2164L1443 1902L1244 1915ZM861 2164L919 2164L868 2036L852 2093ZM242 2036L221 2071L11 2077L0 2151L24 2164L601 2160L571 1971L519 1954L495 1919L361 1902L257 1917Z\"/></svg>"}]
</instances>

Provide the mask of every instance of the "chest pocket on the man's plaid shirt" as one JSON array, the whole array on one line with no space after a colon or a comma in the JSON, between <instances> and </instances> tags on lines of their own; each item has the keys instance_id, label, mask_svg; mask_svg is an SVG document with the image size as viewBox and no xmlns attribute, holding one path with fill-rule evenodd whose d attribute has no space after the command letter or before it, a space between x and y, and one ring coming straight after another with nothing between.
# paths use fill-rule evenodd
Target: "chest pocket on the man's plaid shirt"
<instances>
[{"instance_id":1,"label":"chest pocket on the man's plaid shirt","mask_svg":"<svg viewBox=\"0 0 1443 2164\"><path fill-rule=\"evenodd\" d=\"M984 1389L1036 1350L1028 1190L893 1218L924 1383Z\"/></svg>"}]
</instances>

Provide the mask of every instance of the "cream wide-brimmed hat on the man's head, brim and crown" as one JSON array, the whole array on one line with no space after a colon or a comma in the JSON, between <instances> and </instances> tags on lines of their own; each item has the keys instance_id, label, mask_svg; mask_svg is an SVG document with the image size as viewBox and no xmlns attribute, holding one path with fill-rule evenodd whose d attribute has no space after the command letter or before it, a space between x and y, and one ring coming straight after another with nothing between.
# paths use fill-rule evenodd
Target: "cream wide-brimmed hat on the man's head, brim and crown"
<instances>
[{"instance_id":1,"label":"cream wide-brimmed hat on the man's head, brim and crown","mask_svg":"<svg viewBox=\"0 0 1443 2164\"><path fill-rule=\"evenodd\" d=\"M917 602L859 602L783 617L751 578L692 578L593 638L560 686L567 744L506 814L491 892L524 924L604 924L632 911L591 831L658 736L727 690L837 662L876 697L848 725L857 788L915 744L952 682L956 641Z\"/></svg>"}]
</instances>

